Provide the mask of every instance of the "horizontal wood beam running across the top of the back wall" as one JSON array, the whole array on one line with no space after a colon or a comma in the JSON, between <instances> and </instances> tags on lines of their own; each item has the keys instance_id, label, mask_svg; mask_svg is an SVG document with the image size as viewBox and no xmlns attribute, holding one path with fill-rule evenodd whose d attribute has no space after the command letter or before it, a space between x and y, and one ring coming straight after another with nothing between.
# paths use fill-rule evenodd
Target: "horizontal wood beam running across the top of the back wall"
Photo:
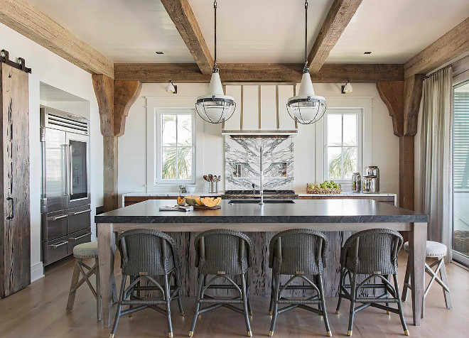
<instances>
[{"instance_id":1,"label":"horizontal wood beam running across the top of the back wall","mask_svg":"<svg viewBox=\"0 0 469 338\"><path fill-rule=\"evenodd\" d=\"M303 65L293 63L220 63L222 82L300 82ZM116 63L116 80L159 83L210 82L210 75L200 73L195 63ZM403 65L342 65L326 63L313 82L338 83L404 80Z\"/></svg>"}]
</instances>

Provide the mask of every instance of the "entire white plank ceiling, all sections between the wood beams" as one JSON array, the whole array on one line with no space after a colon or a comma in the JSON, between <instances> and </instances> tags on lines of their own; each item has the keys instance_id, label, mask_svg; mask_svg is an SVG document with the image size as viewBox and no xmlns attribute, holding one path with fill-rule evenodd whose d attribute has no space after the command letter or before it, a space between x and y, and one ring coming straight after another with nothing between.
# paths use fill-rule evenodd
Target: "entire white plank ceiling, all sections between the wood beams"
<instances>
[{"instance_id":1,"label":"entire white plank ceiling, all sections between the wood beams","mask_svg":"<svg viewBox=\"0 0 469 338\"><path fill-rule=\"evenodd\" d=\"M114 62L194 62L159 0L28 1ZM213 1L189 2L213 56ZM308 2L309 50L333 0ZM304 0L217 3L219 62L303 62ZM468 0L363 0L326 62L404 63L468 17Z\"/></svg>"}]
</instances>

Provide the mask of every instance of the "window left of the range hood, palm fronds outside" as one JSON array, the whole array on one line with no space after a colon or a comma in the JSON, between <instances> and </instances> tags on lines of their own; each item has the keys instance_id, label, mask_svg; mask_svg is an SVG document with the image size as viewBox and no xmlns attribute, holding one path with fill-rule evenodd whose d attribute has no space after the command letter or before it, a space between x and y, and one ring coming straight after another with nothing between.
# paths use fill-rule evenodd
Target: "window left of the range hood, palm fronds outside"
<instances>
[{"instance_id":1,"label":"window left of the range hood, palm fronds outside","mask_svg":"<svg viewBox=\"0 0 469 338\"><path fill-rule=\"evenodd\" d=\"M158 114L158 182L195 182L195 121L193 114Z\"/></svg>"}]
</instances>

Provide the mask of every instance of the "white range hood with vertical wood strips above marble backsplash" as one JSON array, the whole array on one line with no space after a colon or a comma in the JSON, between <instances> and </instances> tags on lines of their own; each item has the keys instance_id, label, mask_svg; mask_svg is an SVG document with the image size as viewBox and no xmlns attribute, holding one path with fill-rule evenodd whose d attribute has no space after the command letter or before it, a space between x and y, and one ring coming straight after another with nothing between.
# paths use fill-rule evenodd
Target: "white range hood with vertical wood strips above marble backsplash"
<instances>
[{"instance_id":1,"label":"white range hood with vertical wood strips above marble backsplash","mask_svg":"<svg viewBox=\"0 0 469 338\"><path fill-rule=\"evenodd\" d=\"M228 135L294 135L296 121L286 111L286 102L296 92L293 83L226 84L225 92L234 97L236 110L222 124Z\"/></svg>"}]
</instances>

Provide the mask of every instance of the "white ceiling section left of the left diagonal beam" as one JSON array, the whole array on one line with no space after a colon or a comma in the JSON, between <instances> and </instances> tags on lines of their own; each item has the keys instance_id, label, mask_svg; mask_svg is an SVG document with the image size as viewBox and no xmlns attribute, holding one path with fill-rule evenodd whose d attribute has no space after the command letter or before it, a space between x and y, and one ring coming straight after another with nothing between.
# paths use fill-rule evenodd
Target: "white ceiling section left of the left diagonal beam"
<instances>
[{"instance_id":1,"label":"white ceiling section left of the left diagonal beam","mask_svg":"<svg viewBox=\"0 0 469 338\"><path fill-rule=\"evenodd\" d=\"M159 0L28 1L114 62L194 62Z\"/></svg>"}]
</instances>

